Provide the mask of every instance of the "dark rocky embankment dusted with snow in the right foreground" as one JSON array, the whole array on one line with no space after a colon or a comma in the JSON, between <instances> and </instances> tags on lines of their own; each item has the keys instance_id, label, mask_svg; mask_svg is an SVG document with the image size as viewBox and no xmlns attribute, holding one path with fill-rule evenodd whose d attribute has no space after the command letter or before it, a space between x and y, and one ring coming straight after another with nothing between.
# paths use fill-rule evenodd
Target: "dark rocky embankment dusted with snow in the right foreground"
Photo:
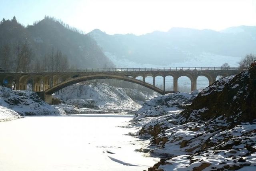
<instances>
[{"instance_id":1,"label":"dark rocky embankment dusted with snow in the right foreground","mask_svg":"<svg viewBox=\"0 0 256 171\"><path fill-rule=\"evenodd\" d=\"M151 129L145 124L139 132L152 137L151 144L140 151L164 158L149 171L255 169L255 106L253 67L210 85L181 113L169 107L160 118L147 122Z\"/></svg>"}]
</instances>

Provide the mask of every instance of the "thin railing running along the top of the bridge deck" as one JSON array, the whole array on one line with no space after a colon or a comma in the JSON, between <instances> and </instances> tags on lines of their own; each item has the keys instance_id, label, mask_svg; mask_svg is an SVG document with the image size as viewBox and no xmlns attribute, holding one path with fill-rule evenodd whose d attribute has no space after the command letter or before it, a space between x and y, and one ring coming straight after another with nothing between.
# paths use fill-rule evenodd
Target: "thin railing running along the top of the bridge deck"
<instances>
[{"instance_id":1,"label":"thin railing running along the top of the bridge deck","mask_svg":"<svg viewBox=\"0 0 256 171\"><path fill-rule=\"evenodd\" d=\"M207 70L240 70L239 67L169 67L169 68L81 68L67 69L64 71L41 71L41 72L140 72L140 71L207 71ZM0 70L0 73L6 71ZM15 73L14 71L8 71ZM27 71L39 72L39 71Z\"/></svg>"}]
</instances>

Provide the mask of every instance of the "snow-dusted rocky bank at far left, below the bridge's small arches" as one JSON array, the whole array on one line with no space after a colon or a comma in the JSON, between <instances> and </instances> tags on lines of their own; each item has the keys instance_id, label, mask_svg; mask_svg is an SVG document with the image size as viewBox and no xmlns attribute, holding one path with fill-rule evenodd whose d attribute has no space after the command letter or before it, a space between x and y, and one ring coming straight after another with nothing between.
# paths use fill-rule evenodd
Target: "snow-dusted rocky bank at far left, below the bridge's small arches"
<instances>
[{"instance_id":1,"label":"snow-dusted rocky bank at far left, below the bridge's small arches","mask_svg":"<svg viewBox=\"0 0 256 171\"><path fill-rule=\"evenodd\" d=\"M33 91L12 90L0 86L0 121L24 115L64 115L62 109L45 103Z\"/></svg>"}]
</instances>

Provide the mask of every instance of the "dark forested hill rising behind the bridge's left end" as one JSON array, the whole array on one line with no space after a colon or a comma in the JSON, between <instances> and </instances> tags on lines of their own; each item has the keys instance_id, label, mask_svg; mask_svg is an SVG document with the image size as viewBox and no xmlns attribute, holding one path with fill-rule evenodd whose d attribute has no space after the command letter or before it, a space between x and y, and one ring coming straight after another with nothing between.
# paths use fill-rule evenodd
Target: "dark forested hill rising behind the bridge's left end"
<instances>
[{"instance_id":1,"label":"dark forested hill rising behind the bridge's left end","mask_svg":"<svg viewBox=\"0 0 256 171\"><path fill-rule=\"evenodd\" d=\"M15 49L16 44L28 42L32 50L31 67L36 61L43 64L43 59L51 52L61 52L68 59L69 67L103 68L114 67L104 55L94 39L68 28L54 18L45 17L33 26L24 27L16 18L0 23L0 48L8 44Z\"/></svg>"}]
</instances>

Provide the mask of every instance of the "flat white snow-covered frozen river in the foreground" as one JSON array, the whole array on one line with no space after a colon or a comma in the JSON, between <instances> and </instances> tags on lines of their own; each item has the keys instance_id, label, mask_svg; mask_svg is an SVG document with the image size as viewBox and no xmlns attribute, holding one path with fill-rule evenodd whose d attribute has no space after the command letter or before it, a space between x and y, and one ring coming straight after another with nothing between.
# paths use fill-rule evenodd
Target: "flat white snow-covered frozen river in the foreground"
<instances>
[{"instance_id":1,"label":"flat white snow-covered frozen river in the foreground","mask_svg":"<svg viewBox=\"0 0 256 171\"><path fill-rule=\"evenodd\" d=\"M158 159L134 152L131 115L34 116L0 123L0 171L143 171ZM108 152L114 153L108 153Z\"/></svg>"}]
</instances>

